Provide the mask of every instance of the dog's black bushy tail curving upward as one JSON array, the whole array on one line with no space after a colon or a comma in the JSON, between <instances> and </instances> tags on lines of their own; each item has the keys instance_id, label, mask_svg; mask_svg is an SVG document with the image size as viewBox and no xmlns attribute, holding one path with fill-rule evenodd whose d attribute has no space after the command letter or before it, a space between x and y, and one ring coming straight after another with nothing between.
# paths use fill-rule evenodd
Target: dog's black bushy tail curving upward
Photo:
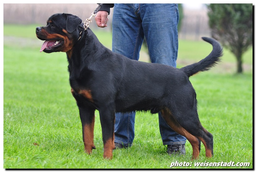
<instances>
[{"instance_id":1,"label":"dog's black bushy tail curving upward","mask_svg":"<svg viewBox=\"0 0 256 172\"><path fill-rule=\"evenodd\" d=\"M220 57L223 55L222 47L220 46L219 42L209 37L202 37L202 39L212 45L212 51L203 60L181 68L181 70L183 70L188 77L198 72L209 70L211 67L215 66L216 64L218 64L218 62L220 62Z\"/></svg>"}]
</instances>

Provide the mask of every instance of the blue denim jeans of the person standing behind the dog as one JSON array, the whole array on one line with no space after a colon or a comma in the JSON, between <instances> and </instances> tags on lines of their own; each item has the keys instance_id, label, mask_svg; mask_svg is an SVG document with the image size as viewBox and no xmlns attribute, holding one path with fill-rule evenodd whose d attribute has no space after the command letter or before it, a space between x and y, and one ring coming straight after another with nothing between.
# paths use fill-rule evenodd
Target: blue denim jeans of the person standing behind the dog
<instances>
[{"instance_id":1,"label":"blue denim jeans of the person standing behind the dog","mask_svg":"<svg viewBox=\"0 0 256 172\"><path fill-rule=\"evenodd\" d=\"M139 60L145 37L152 63L176 67L178 20L178 4L115 4L112 50L130 59ZM173 131L160 113L158 116L164 145L186 143L185 137ZM135 136L134 123L135 112L116 113L116 143L132 145Z\"/></svg>"}]
</instances>

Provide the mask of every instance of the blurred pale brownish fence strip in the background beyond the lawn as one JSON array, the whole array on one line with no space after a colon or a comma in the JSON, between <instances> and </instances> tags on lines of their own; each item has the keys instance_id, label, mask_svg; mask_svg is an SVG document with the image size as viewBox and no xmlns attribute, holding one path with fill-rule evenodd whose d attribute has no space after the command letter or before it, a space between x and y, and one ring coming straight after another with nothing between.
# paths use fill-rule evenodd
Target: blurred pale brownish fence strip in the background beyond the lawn
<instances>
[{"instance_id":1,"label":"blurred pale brownish fence strip in the background beyond the lawn","mask_svg":"<svg viewBox=\"0 0 256 172\"><path fill-rule=\"evenodd\" d=\"M3 22L8 24L40 24L45 25L50 15L70 13L79 16L83 21L95 10L97 4L3 4ZM109 15L111 24L112 12ZM183 9L182 27L179 39L199 40L202 36L210 36L207 10ZM91 28L97 28L91 24ZM111 29L107 27L104 30Z\"/></svg>"}]
</instances>

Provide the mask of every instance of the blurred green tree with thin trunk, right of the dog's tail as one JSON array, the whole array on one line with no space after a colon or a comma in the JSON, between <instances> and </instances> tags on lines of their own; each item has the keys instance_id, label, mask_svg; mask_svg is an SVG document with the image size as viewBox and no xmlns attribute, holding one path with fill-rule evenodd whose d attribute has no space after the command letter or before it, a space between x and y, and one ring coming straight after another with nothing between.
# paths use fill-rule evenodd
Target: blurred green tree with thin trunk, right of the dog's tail
<instances>
[{"instance_id":1,"label":"blurred green tree with thin trunk, right of the dog's tail","mask_svg":"<svg viewBox=\"0 0 256 172\"><path fill-rule=\"evenodd\" d=\"M210 4L208 9L212 37L235 55L242 73L242 55L253 44L253 5Z\"/></svg>"}]
</instances>

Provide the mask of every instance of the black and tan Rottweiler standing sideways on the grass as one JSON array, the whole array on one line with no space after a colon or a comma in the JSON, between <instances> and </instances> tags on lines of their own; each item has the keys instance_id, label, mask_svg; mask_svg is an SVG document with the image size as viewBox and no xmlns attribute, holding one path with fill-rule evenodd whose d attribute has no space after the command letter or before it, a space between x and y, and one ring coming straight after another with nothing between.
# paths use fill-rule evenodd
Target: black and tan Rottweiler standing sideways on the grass
<instances>
[{"instance_id":1,"label":"black and tan Rottweiler standing sideways on the grass","mask_svg":"<svg viewBox=\"0 0 256 172\"><path fill-rule=\"evenodd\" d=\"M69 62L71 93L77 101L83 128L84 150L93 143L94 111L100 114L104 158L112 158L115 112L161 112L166 123L185 136L198 158L201 142L206 157L213 156L213 137L201 125L197 114L196 92L189 81L195 73L209 70L220 61L222 48L211 38L211 53L198 63L183 68L130 60L104 47L82 20L71 14L52 15L45 27L36 28L36 36L45 40L46 53L66 52ZM81 38L79 38L79 33Z\"/></svg>"}]
</instances>

